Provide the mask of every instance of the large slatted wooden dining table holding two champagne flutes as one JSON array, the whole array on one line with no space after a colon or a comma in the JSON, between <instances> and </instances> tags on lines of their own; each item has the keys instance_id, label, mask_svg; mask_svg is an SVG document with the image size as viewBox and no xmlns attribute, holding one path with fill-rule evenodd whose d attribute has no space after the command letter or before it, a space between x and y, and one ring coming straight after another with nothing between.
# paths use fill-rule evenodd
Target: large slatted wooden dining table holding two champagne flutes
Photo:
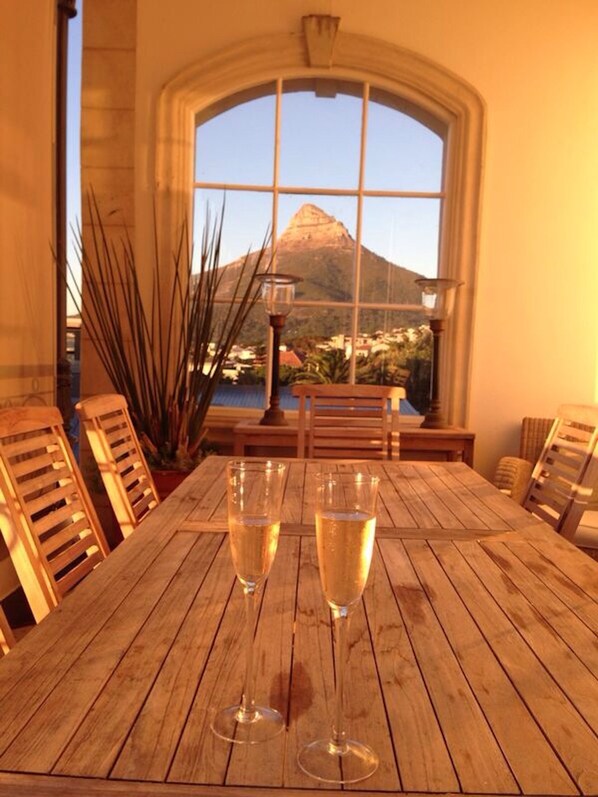
<instances>
[{"instance_id":1,"label":"large slatted wooden dining table holding two champagne flutes","mask_svg":"<svg viewBox=\"0 0 598 797\"><path fill-rule=\"evenodd\" d=\"M289 463L257 630L257 697L288 728L249 749L209 730L244 668L224 465L206 460L0 662L1 795L335 791L295 760L333 703L316 463ZM381 763L350 791L596 794L597 563L462 463L366 467L379 528L346 711Z\"/></svg>"}]
</instances>

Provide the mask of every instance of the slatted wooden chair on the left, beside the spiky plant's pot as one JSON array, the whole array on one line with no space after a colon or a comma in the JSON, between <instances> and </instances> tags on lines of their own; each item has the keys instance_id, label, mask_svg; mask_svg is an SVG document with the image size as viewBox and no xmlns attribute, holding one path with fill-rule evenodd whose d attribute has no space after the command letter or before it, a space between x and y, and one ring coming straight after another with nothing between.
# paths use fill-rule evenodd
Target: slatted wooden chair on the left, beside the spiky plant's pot
<instances>
[{"instance_id":1,"label":"slatted wooden chair on the left, beside the spiky plant's pot","mask_svg":"<svg viewBox=\"0 0 598 797\"><path fill-rule=\"evenodd\" d=\"M76 409L123 537L128 537L160 499L127 402L112 393L80 401Z\"/></svg>"}]
</instances>

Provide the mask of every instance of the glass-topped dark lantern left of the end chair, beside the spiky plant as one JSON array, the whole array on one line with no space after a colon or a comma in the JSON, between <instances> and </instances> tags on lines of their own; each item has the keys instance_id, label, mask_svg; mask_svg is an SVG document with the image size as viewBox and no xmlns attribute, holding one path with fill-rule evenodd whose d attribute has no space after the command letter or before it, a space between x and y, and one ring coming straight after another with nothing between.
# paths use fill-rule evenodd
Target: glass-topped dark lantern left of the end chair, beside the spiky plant
<instances>
[{"instance_id":1,"label":"glass-topped dark lantern left of the end chair, beside the spiky plant","mask_svg":"<svg viewBox=\"0 0 598 797\"><path fill-rule=\"evenodd\" d=\"M292 274L259 274L262 283L262 301L272 327L272 378L270 406L264 412L260 423L264 426L286 426L287 420L280 409L278 395L278 374L280 369L280 334L286 317L293 309L295 285L301 277Z\"/></svg>"}]
</instances>

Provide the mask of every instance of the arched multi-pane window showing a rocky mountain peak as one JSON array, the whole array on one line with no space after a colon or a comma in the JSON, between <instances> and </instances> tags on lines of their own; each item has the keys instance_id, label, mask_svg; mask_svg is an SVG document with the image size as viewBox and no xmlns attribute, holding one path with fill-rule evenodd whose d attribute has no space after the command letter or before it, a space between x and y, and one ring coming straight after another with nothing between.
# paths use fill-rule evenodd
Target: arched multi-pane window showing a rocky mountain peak
<instances>
[{"instance_id":1,"label":"arched multi-pane window showing a rocky mountain peak","mask_svg":"<svg viewBox=\"0 0 598 797\"><path fill-rule=\"evenodd\" d=\"M438 274L446 129L421 115L369 83L325 78L279 79L198 114L195 216L201 226L226 201L221 263L269 227L273 270L302 279L280 354L283 400L297 380L351 381L405 385L403 411L427 409L415 279ZM217 402L263 405L267 338L258 306Z\"/></svg>"}]
</instances>

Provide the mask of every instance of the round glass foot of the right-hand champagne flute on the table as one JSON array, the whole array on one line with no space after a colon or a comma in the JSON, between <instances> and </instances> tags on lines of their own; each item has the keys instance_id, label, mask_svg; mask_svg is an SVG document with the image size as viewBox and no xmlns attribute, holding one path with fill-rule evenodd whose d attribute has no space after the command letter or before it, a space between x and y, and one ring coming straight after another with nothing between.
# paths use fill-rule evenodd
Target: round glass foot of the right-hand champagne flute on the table
<instances>
[{"instance_id":1,"label":"round glass foot of the right-hand champagne flute on the table","mask_svg":"<svg viewBox=\"0 0 598 797\"><path fill-rule=\"evenodd\" d=\"M330 739L318 739L306 745L297 756L300 768L312 778L325 783L357 783L378 769L378 756L366 744L347 739L335 745Z\"/></svg>"}]
</instances>

